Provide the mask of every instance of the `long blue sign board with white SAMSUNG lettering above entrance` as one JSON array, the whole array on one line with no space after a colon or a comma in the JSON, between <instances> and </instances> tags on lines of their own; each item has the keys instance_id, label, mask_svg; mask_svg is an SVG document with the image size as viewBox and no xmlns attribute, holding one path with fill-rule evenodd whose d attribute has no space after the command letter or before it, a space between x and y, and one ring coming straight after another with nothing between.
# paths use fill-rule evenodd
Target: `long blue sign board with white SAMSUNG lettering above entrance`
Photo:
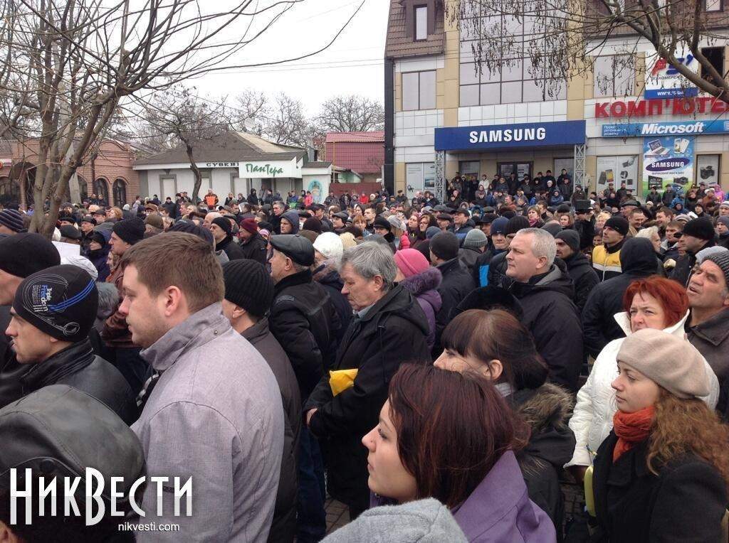
<instances>
[{"instance_id":1,"label":"long blue sign board with white SAMSUNG lettering above entrance","mask_svg":"<svg viewBox=\"0 0 729 543\"><path fill-rule=\"evenodd\" d=\"M585 143L585 121L525 122L435 129L436 151L480 151L582 143Z\"/></svg>"}]
</instances>

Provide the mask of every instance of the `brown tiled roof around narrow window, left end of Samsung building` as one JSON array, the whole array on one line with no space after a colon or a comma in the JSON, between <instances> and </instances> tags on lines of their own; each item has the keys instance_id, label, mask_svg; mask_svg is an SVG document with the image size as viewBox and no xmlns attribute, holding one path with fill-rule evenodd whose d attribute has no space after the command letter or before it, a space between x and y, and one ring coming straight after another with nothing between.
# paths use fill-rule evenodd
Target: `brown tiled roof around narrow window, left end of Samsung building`
<instances>
[{"instance_id":1,"label":"brown tiled roof around narrow window, left end of Samsung building","mask_svg":"<svg viewBox=\"0 0 729 543\"><path fill-rule=\"evenodd\" d=\"M445 50L445 31L443 30L443 5L440 1L425 2L436 6L434 32L428 38L415 41L408 36L405 28L405 9L411 0L390 0L390 16L387 22L387 39L385 58L421 57L425 55L442 55ZM421 2L422 3L422 2Z\"/></svg>"}]
</instances>

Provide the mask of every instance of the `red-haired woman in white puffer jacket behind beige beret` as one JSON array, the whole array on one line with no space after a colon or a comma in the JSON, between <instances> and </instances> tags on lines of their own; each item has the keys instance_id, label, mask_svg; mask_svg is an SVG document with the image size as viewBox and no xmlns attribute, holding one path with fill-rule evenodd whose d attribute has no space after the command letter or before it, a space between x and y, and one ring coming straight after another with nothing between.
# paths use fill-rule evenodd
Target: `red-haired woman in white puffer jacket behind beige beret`
<instances>
[{"instance_id":1,"label":"red-haired woman in white puffer jacket behind beige beret","mask_svg":"<svg viewBox=\"0 0 729 543\"><path fill-rule=\"evenodd\" d=\"M688 317L688 297L679 283L658 275L652 275L631 283L623 296L625 312L615 315L615 320L625 336L638 330L654 328L663 330L684 341L684 322ZM625 338L610 341L600 352L587 382L577 392L569 427L574 432L577 445L572 460L565 467L572 467L573 475L580 480L592 464L600 444L612 430L615 415L615 390L610 387L618 374L617 352ZM701 399L714 409L719 399L719 381L706 360L706 377L709 395Z\"/></svg>"}]
</instances>

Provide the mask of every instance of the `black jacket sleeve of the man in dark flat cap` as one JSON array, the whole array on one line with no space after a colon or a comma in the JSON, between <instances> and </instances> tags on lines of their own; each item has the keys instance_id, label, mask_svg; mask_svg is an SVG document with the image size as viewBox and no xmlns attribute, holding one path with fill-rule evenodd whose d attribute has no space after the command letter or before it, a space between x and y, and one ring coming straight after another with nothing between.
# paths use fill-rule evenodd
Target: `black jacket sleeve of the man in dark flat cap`
<instances>
[{"instance_id":1,"label":"black jacket sleeve of the man in dark flat cap","mask_svg":"<svg viewBox=\"0 0 729 543\"><path fill-rule=\"evenodd\" d=\"M305 314L296 306L279 301L274 302L268 321L271 333L291 361L302 394L307 394L307 385L321 378L324 359Z\"/></svg>"}]
</instances>

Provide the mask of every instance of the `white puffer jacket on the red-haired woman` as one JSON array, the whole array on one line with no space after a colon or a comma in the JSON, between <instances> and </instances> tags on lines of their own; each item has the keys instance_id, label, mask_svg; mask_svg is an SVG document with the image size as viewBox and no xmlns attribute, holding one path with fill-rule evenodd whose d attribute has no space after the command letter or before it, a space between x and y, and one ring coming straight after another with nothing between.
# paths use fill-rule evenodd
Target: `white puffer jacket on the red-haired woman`
<instances>
[{"instance_id":1,"label":"white puffer jacket on the red-haired woman","mask_svg":"<svg viewBox=\"0 0 729 543\"><path fill-rule=\"evenodd\" d=\"M687 318L688 312L679 322L663 331L679 338L685 338L684 322ZM620 328L623 328L625 336L630 336L632 332L628 314L618 313L615 315L615 320ZM564 467L590 466L600 444L612 430L612 416L617 411L617 405L615 404L615 389L610 384L617 377L617 352L620 351L624 340L625 338L614 339L602 349L595 360L587 382L580 392L577 392L577 403L574 405L572 419L569 419L569 427L574 432L577 445L574 447L572 460L567 462ZM719 381L709 363L703 360L703 364L706 368L711 392L701 399L709 405L709 408L714 409L719 400Z\"/></svg>"}]
</instances>

